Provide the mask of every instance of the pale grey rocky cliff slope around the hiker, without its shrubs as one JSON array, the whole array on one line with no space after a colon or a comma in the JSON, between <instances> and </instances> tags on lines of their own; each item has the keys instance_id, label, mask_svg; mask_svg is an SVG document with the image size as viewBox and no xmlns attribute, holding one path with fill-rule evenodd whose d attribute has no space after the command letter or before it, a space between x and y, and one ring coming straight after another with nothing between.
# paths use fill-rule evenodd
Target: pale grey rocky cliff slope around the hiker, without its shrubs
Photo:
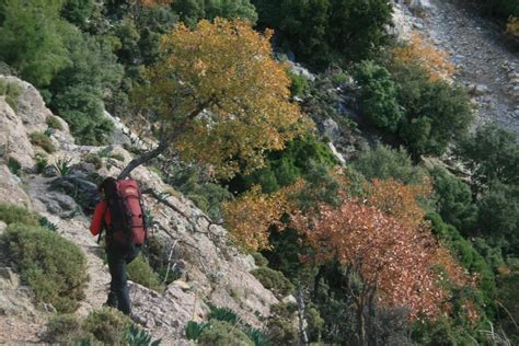
<instances>
[{"instance_id":1,"label":"pale grey rocky cliff slope around the hiker, without its shrubs","mask_svg":"<svg viewBox=\"0 0 519 346\"><path fill-rule=\"evenodd\" d=\"M109 275L103 264L103 251L88 230L89 216L80 211L81 196L78 195L95 188L89 181L92 173L117 175L131 154L120 146L112 146L111 152L124 161L103 158L103 168L95 170L83 159L106 148L74 145L66 123L58 118L64 129L50 135L57 151L45 155L49 164L60 159L71 160L72 170L65 177L48 168L44 174L36 174L34 158L37 153L43 155L44 150L32 145L30 136L45 131L46 119L53 114L31 84L13 77L0 76L0 79L22 89L16 112L0 96L0 194L3 201L38 211L58 227L62 237L82 247L89 263L90 282L77 313L85 315L105 301ZM20 163L22 173L16 175L10 171L10 159L11 163L13 160ZM155 221L152 232L168 245L171 264L181 269L181 278L170 284L163 293L130 282L138 322L163 342L184 344L187 343L183 336L186 323L204 319L208 312L206 303L210 302L230 308L246 322L261 326L257 315L268 316L269 307L277 299L249 273L255 267L253 258L230 245L227 231L210 224L203 211L180 194L161 200L154 198L153 195L172 191L157 174L141 166L134 171L132 177L140 182L142 189L150 192L146 195L146 205ZM70 188L79 193L74 196ZM4 224L0 226L0 230L3 228ZM31 305L31 292L20 282L15 267L7 257L0 257L0 330L11 326L9 333L0 331L0 342L39 341L53 307L42 311Z\"/></svg>"}]
</instances>

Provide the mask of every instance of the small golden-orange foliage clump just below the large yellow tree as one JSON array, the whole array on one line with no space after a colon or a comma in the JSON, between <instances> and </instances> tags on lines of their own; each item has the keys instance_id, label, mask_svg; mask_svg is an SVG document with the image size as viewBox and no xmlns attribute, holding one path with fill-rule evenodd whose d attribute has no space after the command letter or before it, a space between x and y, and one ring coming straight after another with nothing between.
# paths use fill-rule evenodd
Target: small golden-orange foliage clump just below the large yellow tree
<instances>
[{"instance_id":1,"label":"small golden-orange foliage clump just below the large yellow tree","mask_svg":"<svg viewBox=\"0 0 519 346\"><path fill-rule=\"evenodd\" d=\"M254 252L270 249L269 228L281 226L279 219L288 211L289 203L282 192L262 194L261 186L253 186L239 198L223 205L226 227L242 249Z\"/></svg>"}]
</instances>

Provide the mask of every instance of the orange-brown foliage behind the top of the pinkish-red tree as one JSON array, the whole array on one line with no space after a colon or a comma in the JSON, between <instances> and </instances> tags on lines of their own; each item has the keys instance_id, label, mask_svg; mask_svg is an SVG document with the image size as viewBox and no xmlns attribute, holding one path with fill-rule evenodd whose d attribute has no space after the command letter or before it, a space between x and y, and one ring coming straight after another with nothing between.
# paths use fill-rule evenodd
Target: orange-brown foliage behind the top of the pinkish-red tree
<instances>
[{"instance_id":1,"label":"orange-brown foliage behind the top of the pinkish-red tree","mask_svg":"<svg viewBox=\"0 0 519 346\"><path fill-rule=\"evenodd\" d=\"M428 181L422 185L404 185L395 180L373 180L367 184L367 203L411 228L424 228L425 210L418 205L432 192Z\"/></svg>"}]
</instances>

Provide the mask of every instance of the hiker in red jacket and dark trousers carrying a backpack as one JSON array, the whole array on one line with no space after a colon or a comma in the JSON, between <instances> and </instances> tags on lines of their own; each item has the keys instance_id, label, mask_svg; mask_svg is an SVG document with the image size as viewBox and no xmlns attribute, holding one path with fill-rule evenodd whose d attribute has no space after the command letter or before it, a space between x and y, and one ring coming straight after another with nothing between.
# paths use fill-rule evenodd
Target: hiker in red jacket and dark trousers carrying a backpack
<instances>
[{"instance_id":1,"label":"hiker in red jacket and dark trousers carrying a backpack","mask_svg":"<svg viewBox=\"0 0 519 346\"><path fill-rule=\"evenodd\" d=\"M129 315L131 302L126 280L126 266L140 252L146 240L146 224L140 193L135 181L116 181L106 177L99 191L102 200L95 206L90 232L93 235L106 230L109 292L106 304Z\"/></svg>"}]
</instances>

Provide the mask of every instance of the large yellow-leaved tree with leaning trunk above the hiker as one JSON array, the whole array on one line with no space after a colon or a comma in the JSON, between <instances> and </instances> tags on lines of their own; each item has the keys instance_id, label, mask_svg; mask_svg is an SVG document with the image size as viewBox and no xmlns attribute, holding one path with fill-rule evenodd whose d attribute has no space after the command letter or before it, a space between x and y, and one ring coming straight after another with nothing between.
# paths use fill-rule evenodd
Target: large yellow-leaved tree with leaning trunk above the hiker
<instances>
[{"instance_id":1,"label":"large yellow-leaved tree with leaning trunk above the hiker","mask_svg":"<svg viewBox=\"0 0 519 346\"><path fill-rule=\"evenodd\" d=\"M163 58L148 69L136 104L157 124L159 146L132 160L131 170L168 148L211 164L220 176L263 164L265 150L280 150L301 131L289 102L290 79L272 58L272 32L247 22L200 21L178 25L161 43Z\"/></svg>"}]
</instances>

